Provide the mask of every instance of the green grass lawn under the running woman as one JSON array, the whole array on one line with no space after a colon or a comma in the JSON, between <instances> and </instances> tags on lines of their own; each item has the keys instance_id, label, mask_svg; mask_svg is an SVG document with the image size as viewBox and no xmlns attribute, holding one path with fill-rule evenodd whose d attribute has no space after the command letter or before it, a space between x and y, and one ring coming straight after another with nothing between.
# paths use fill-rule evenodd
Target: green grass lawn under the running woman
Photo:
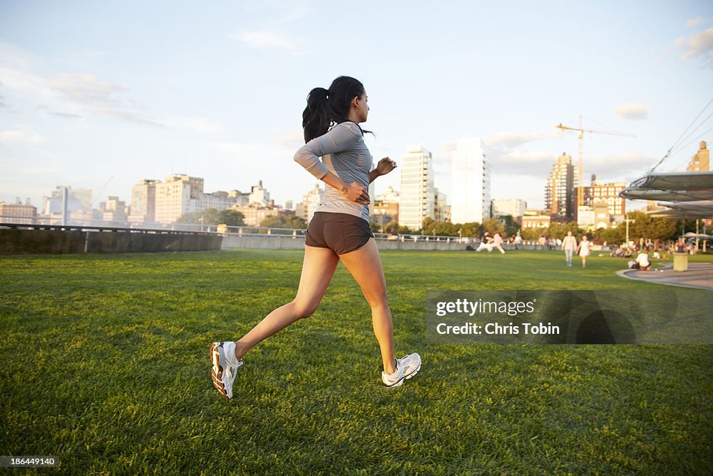
<instances>
[{"instance_id":1,"label":"green grass lawn under the running woman","mask_svg":"<svg viewBox=\"0 0 713 476\"><path fill-rule=\"evenodd\" d=\"M710 346L426 344L426 290L670 288L597 253L381 256L419 375L381 386L340 265L312 318L247 354L233 400L208 345L291 300L302 252L0 257L0 454L91 474L713 473Z\"/></svg>"}]
</instances>

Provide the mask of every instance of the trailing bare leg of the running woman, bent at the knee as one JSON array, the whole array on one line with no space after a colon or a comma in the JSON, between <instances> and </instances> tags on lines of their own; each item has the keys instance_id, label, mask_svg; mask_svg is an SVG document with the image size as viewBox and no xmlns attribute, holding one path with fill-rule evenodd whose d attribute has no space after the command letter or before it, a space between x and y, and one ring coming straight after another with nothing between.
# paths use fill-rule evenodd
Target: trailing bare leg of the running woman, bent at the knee
<instances>
[{"instance_id":1,"label":"trailing bare leg of the running woman, bent at the knee","mask_svg":"<svg viewBox=\"0 0 713 476\"><path fill-rule=\"evenodd\" d=\"M308 318L317 310L337 269L339 256L329 248L304 246L302 275L297 296L292 302L280 306L263 318L245 337L235 343L238 360L261 340L265 340L301 318Z\"/></svg>"}]
</instances>

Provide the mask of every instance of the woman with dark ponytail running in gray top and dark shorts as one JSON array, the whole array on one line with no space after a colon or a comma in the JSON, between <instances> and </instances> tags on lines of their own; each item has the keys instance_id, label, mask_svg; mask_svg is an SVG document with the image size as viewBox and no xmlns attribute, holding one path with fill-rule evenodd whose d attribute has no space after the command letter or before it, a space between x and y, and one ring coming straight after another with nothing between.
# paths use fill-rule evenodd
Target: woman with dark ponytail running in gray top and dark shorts
<instances>
[{"instance_id":1,"label":"woman with dark ponytail running in gray top and dark shorts","mask_svg":"<svg viewBox=\"0 0 713 476\"><path fill-rule=\"evenodd\" d=\"M236 371L248 350L317 310L340 260L371 307L384 365L384 386L399 387L421 369L419 354L394 358L394 326L384 270L369 229L368 188L374 179L394 170L396 163L385 157L371 169L371 153L359 126L366 122L368 114L366 91L354 78L340 76L329 89L309 91L307 108L302 113L306 144L294 154L294 161L324 181L327 189L309 222L302 276L294 300L273 310L239 340L210 345L212 381L223 397L232 398ZM349 370L334 368L334 372L337 376L337 372Z\"/></svg>"}]
</instances>

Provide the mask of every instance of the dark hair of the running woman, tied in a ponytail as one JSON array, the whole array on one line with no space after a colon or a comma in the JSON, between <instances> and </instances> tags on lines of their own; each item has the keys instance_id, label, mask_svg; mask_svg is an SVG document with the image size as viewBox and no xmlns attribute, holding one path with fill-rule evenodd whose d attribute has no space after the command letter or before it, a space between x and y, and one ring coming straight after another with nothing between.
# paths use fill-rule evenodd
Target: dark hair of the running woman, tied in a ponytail
<instances>
[{"instance_id":1,"label":"dark hair of the running woman, tied in a ponytail","mask_svg":"<svg viewBox=\"0 0 713 476\"><path fill-rule=\"evenodd\" d=\"M322 136L334 124L349 121L347 116L352 99L361 98L365 92L364 85L349 76L339 76L332 81L329 89L314 88L309 91L307 107L302 111L304 142Z\"/></svg>"}]
</instances>

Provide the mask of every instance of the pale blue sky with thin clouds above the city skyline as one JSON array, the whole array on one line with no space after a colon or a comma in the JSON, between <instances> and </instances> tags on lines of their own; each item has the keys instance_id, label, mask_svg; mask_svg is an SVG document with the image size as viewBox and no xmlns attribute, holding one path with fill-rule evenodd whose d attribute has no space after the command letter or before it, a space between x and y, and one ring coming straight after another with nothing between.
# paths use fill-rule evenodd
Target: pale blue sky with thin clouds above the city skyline
<instances>
[{"instance_id":1,"label":"pale blue sky with thin clouds above the city skyline","mask_svg":"<svg viewBox=\"0 0 713 476\"><path fill-rule=\"evenodd\" d=\"M188 173L297 202L305 98L342 74L366 86L374 158L422 144L449 193L453 143L481 137L493 198L540 207L556 157L578 158L556 124L634 134L584 143L585 176L631 181L713 98L713 2L0 0L0 201L71 185L129 203Z\"/></svg>"}]
</instances>

